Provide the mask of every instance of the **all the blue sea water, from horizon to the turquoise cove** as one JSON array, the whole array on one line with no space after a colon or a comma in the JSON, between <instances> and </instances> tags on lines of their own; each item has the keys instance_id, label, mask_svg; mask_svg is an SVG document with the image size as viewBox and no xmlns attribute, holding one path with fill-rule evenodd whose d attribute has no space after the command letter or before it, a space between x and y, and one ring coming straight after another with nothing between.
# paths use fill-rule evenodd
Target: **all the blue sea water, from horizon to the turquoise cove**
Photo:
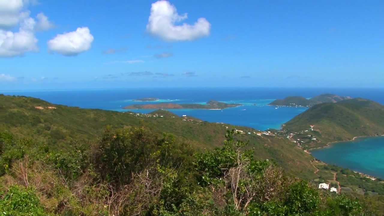
<instances>
[{"instance_id":1,"label":"all the blue sea water, from horizon to the turquoise cove","mask_svg":"<svg viewBox=\"0 0 384 216\"><path fill-rule=\"evenodd\" d=\"M223 122L249 126L258 130L279 129L283 123L305 111L306 108L267 106L271 101L286 96L311 98L323 93L361 97L384 104L384 88L142 88L104 90L44 90L44 91L0 91L5 95L23 95L40 98L51 103L126 111L122 107L135 103L206 103L218 100L241 103L243 106L224 110L170 110L177 115L189 115L210 122ZM139 102L137 98L154 97L159 101ZM148 113L153 110L132 110ZM313 156L328 163L338 164L374 176L384 177L384 138L368 138L333 145L331 148L313 152ZM351 144L351 145L350 145ZM368 159L368 160L367 160Z\"/></svg>"}]
</instances>

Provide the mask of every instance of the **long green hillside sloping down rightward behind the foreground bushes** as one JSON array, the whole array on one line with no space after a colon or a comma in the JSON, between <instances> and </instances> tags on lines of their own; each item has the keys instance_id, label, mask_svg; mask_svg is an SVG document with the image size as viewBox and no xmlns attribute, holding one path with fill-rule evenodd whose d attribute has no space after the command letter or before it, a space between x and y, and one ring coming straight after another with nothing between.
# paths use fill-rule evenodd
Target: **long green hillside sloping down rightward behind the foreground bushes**
<instances>
[{"instance_id":1,"label":"long green hillside sloping down rightward behind the foreground bushes","mask_svg":"<svg viewBox=\"0 0 384 216\"><path fill-rule=\"evenodd\" d=\"M0 96L0 131L33 138L52 148L66 148L73 141L88 145L103 133L107 125L113 128L146 128L159 136L171 133L177 140L198 150L222 145L226 131L236 128L243 131L239 138L250 141L257 158L273 159L287 173L301 178L314 177L310 155L288 140L258 136L255 134L258 131L252 128L209 123L190 116L182 118L164 110L150 114L123 113L55 105L24 96Z\"/></svg>"}]
</instances>

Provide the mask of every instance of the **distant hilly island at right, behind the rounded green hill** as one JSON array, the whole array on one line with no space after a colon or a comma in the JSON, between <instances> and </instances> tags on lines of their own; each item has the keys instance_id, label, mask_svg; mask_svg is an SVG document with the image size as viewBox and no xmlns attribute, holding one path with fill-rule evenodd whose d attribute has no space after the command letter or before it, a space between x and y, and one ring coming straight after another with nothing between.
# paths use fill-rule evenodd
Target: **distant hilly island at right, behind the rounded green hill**
<instances>
[{"instance_id":1,"label":"distant hilly island at right, behind the rounded green hill","mask_svg":"<svg viewBox=\"0 0 384 216\"><path fill-rule=\"evenodd\" d=\"M347 100L347 99L352 99L352 98L349 96L339 96L339 95L333 95L333 94L323 94L323 95L313 97L311 99L306 99L301 96L290 96L284 99L275 100L272 103L269 103L268 105L311 107L320 103L336 103L336 102Z\"/></svg>"}]
</instances>

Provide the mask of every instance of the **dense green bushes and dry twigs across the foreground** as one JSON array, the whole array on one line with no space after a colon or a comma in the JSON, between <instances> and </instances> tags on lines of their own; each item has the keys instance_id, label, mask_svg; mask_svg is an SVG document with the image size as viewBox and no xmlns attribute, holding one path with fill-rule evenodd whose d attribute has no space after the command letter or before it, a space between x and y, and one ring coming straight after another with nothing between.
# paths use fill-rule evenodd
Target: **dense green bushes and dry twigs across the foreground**
<instances>
[{"instance_id":1,"label":"dense green bushes and dry twigs across the foreground","mask_svg":"<svg viewBox=\"0 0 384 216\"><path fill-rule=\"evenodd\" d=\"M226 138L196 152L169 134L107 127L89 148L58 151L1 133L1 214L380 215L365 199L325 193L256 160L234 130Z\"/></svg>"}]
</instances>

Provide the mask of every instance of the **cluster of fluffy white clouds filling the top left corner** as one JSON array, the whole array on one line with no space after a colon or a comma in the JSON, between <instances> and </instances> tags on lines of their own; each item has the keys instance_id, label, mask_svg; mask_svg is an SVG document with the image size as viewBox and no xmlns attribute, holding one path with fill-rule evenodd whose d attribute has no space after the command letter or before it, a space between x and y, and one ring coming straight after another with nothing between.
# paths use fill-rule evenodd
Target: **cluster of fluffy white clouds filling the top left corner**
<instances>
[{"instance_id":1,"label":"cluster of fluffy white clouds filling the top left corner","mask_svg":"<svg viewBox=\"0 0 384 216\"><path fill-rule=\"evenodd\" d=\"M53 27L43 13L36 16L37 22L25 10L28 0L0 0L0 57L21 56L26 52L38 51L36 30ZM9 29L19 26L18 32Z\"/></svg>"}]
</instances>

